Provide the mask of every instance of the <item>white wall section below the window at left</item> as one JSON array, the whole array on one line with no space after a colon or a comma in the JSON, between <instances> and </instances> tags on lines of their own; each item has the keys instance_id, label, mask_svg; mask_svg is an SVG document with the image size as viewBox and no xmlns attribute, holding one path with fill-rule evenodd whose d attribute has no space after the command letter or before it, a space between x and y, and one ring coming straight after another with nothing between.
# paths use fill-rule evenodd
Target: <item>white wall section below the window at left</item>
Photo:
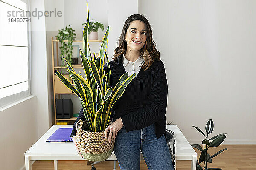
<instances>
[{"instance_id":1,"label":"white wall section below the window at left","mask_svg":"<svg viewBox=\"0 0 256 170\"><path fill-rule=\"evenodd\" d=\"M36 97L1 108L0 164L1 170L20 170L24 167L24 153L37 141ZM18 104L17 104L18 103Z\"/></svg>"}]
</instances>

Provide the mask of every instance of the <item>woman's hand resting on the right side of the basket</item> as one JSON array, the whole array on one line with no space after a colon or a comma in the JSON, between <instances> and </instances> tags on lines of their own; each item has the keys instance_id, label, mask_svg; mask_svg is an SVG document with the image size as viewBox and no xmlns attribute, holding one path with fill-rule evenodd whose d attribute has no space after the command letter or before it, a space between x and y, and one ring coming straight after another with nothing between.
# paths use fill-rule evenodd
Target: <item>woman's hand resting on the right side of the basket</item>
<instances>
[{"instance_id":1,"label":"woman's hand resting on the right side of the basket","mask_svg":"<svg viewBox=\"0 0 256 170\"><path fill-rule=\"evenodd\" d=\"M113 133L113 138L116 139L117 132L123 127L122 119L121 117L119 119L116 119L115 122L111 123L104 131L105 139L108 137L108 142L111 142L111 136ZM109 131L109 136L108 136Z\"/></svg>"}]
</instances>

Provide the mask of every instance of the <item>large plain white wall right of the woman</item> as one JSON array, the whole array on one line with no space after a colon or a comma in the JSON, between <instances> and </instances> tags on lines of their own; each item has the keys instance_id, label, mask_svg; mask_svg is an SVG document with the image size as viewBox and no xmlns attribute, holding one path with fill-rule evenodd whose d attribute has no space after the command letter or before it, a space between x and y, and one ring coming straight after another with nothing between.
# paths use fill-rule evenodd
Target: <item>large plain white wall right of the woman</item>
<instances>
[{"instance_id":1,"label":"large plain white wall right of the woman","mask_svg":"<svg viewBox=\"0 0 256 170\"><path fill-rule=\"evenodd\" d=\"M256 1L139 1L165 63L167 119L201 143L213 119L226 144L256 144Z\"/></svg>"}]
</instances>

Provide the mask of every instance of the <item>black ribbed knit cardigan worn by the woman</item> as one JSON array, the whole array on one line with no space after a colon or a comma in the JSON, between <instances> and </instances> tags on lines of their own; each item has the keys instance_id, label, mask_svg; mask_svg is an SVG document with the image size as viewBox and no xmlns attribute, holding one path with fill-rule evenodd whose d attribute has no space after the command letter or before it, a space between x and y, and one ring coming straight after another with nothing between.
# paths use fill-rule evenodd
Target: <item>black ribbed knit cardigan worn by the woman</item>
<instances>
[{"instance_id":1,"label":"black ribbed knit cardigan worn by the woman","mask_svg":"<svg viewBox=\"0 0 256 170\"><path fill-rule=\"evenodd\" d=\"M115 87L119 78L125 73L123 55L110 61L112 87ZM106 64L104 65L107 73ZM140 130L155 123L157 139L162 135L166 138L166 106L167 106L167 79L164 64L154 59L154 63L146 71L141 68L138 75L126 87L123 95L112 108L110 119L113 122L120 118L126 132ZM76 122L85 120L81 109ZM70 136L76 136L76 122ZM167 140L167 139L166 139Z\"/></svg>"}]
</instances>

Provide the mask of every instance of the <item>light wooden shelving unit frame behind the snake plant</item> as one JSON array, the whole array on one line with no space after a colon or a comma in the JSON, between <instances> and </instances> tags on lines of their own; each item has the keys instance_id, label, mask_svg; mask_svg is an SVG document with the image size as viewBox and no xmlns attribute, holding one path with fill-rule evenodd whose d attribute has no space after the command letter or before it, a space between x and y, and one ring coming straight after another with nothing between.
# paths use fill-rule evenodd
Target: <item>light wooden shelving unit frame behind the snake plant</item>
<instances>
[{"instance_id":1,"label":"light wooden shelving unit frame behind the snake plant","mask_svg":"<svg viewBox=\"0 0 256 170\"><path fill-rule=\"evenodd\" d=\"M64 120L64 121L68 121L68 120L76 120L76 117L71 117L70 119L57 119L56 118L56 95L73 95L75 93L71 93L71 94L67 94L67 93L55 93L55 81L54 81L54 71L55 70L58 70L59 69L66 69L67 67L61 67L61 66L58 66L59 63L58 63L58 59L57 59L57 63L55 65L54 63L54 59L55 59L55 56L54 56L54 42L56 43L56 56L58 57L58 42L60 42L59 40L53 40L53 37L51 37L52 39L52 81L53 81L53 93L54 93L54 117L55 117L55 124L57 123L57 121L60 121L60 120ZM68 40L64 40L64 42L68 42ZM83 42L83 40L74 40L73 42ZM102 40L88 40L88 42L102 42ZM77 66L77 65L74 65L75 69L83 69L82 66Z\"/></svg>"}]
</instances>

